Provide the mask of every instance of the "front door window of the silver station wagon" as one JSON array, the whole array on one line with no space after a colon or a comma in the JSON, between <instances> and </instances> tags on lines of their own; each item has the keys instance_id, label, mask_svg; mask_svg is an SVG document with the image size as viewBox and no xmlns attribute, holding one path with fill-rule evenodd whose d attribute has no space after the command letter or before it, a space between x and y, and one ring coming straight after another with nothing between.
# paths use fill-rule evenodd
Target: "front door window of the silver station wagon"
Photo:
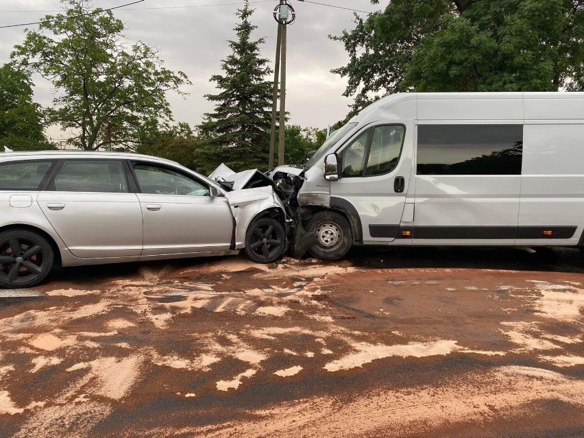
<instances>
[{"instance_id":1,"label":"front door window of the silver station wagon","mask_svg":"<svg viewBox=\"0 0 584 438\"><path fill-rule=\"evenodd\" d=\"M134 173L142 193L210 196L207 185L167 167L136 163L134 165Z\"/></svg>"}]
</instances>

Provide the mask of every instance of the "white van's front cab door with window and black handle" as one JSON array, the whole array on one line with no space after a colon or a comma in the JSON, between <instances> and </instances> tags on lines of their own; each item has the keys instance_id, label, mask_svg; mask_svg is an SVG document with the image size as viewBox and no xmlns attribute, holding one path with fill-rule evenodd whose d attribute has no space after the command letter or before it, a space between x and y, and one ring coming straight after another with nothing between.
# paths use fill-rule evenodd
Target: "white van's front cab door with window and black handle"
<instances>
[{"instance_id":1,"label":"white van's front cab door with window and black handle","mask_svg":"<svg viewBox=\"0 0 584 438\"><path fill-rule=\"evenodd\" d=\"M331 204L356 209L365 242L396 239L410 180L412 131L404 123L372 126L339 152L341 178L330 183Z\"/></svg>"}]
</instances>

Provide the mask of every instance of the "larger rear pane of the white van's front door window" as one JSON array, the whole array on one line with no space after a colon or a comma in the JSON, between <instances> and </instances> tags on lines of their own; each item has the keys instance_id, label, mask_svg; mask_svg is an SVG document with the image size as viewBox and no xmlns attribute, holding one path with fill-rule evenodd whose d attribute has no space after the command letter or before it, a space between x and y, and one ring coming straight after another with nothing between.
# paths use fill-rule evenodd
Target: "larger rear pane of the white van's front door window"
<instances>
[{"instance_id":1,"label":"larger rear pane of the white van's front door window","mask_svg":"<svg viewBox=\"0 0 584 438\"><path fill-rule=\"evenodd\" d=\"M404 131L402 125L374 128L364 176L383 175L396 168L402 152Z\"/></svg>"}]
</instances>

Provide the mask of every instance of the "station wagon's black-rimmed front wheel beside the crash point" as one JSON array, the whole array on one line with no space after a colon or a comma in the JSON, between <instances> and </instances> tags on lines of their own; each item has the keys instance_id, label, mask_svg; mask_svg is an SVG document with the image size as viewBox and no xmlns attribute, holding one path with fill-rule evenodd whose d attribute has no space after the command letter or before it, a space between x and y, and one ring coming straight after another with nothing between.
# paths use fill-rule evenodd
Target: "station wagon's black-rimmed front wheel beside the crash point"
<instances>
[{"instance_id":1,"label":"station wagon's black-rimmed front wheel beside the crash point","mask_svg":"<svg viewBox=\"0 0 584 438\"><path fill-rule=\"evenodd\" d=\"M272 263L286 250L286 232L282 224L271 217L253 221L245 233L245 253L256 263Z\"/></svg>"}]
</instances>

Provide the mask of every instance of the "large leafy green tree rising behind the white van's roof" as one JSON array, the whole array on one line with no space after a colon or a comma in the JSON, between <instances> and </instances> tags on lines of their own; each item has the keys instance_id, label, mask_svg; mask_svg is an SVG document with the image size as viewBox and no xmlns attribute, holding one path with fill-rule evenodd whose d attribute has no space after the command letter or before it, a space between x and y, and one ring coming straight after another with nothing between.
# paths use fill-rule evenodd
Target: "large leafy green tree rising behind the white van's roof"
<instances>
[{"instance_id":1,"label":"large leafy green tree rising behind the white van's roof","mask_svg":"<svg viewBox=\"0 0 584 438\"><path fill-rule=\"evenodd\" d=\"M332 37L355 111L411 90L584 89L582 0L392 0L355 23Z\"/></svg>"}]
</instances>

